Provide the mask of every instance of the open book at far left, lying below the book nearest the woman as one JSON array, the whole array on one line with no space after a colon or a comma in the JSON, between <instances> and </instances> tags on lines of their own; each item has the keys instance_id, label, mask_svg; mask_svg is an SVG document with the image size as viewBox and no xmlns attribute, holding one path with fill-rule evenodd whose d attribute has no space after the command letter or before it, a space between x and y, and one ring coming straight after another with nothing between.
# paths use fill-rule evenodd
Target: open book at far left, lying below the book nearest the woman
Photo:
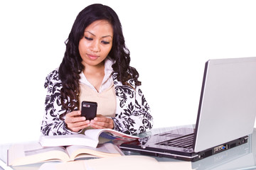
<instances>
[{"instance_id":1,"label":"open book at far left, lying below the book nearest the woman","mask_svg":"<svg viewBox=\"0 0 256 170\"><path fill-rule=\"evenodd\" d=\"M93 157L119 157L122 151L112 143L97 148L72 145L68 147L42 147L38 142L12 145L8 152L8 165L19 166L40 162L69 162Z\"/></svg>"}]
</instances>

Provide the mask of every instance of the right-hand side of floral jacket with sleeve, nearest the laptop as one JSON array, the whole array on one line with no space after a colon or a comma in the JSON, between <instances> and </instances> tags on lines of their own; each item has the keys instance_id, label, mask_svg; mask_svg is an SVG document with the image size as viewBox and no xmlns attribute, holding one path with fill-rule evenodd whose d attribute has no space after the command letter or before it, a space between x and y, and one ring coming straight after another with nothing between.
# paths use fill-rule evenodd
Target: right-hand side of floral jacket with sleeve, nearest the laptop
<instances>
[{"instance_id":1,"label":"right-hand side of floral jacket with sleeve, nearest the laptop","mask_svg":"<svg viewBox=\"0 0 256 170\"><path fill-rule=\"evenodd\" d=\"M146 132L153 127L153 117L142 90L135 87L134 80L122 85L114 76L117 96L117 113L114 120L114 130L135 135Z\"/></svg>"}]
</instances>

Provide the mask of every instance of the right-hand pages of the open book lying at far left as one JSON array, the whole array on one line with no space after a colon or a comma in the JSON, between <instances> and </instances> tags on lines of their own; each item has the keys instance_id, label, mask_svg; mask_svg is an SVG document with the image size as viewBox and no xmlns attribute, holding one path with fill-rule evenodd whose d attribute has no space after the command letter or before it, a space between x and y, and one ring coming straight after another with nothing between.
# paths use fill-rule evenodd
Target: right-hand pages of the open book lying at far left
<instances>
[{"instance_id":1,"label":"right-hand pages of the open book lying at far left","mask_svg":"<svg viewBox=\"0 0 256 170\"><path fill-rule=\"evenodd\" d=\"M88 157L88 154L96 157L118 157L122 151L112 143L99 144L97 148L86 146L69 146L66 148L70 159L75 160L81 157Z\"/></svg>"}]
</instances>

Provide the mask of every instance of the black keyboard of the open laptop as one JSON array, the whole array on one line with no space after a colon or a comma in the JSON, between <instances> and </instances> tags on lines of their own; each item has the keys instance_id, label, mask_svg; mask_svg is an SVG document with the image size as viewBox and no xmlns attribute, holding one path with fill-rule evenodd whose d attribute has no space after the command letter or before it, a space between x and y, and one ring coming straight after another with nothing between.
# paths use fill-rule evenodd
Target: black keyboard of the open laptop
<instances>
[{"instance_id":1,"label":"black keyboard of the open laptop","mask_svg":"<svg viewBox=\"0 0 256 170\"><path fill-rule=\"evenodd\" d=\"M186 135L183 137L178 137L176 139L159 142L156 145L164 145L164 146L170 146L170 147L181 147L181 148L191 149L192 145L193 145L193 137L194 137L194 134Z\"/></svg>"}]
</instances>

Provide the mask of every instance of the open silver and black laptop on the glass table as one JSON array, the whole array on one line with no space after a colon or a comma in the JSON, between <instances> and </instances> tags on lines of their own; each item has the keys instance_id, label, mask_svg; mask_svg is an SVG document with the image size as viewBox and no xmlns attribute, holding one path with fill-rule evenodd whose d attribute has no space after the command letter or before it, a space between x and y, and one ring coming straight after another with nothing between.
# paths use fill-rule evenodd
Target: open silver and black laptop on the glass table
<instances>
[{"instance_id":1,"label":"open silver and black laptop on the glass table","mask_svg":"<svg viewBox=\"0 0 256 170\"><path fill-rule=\"evenodd\" d=\"M120 148L196 162L247 143L255 115L256 57L208 60L195 128L149 135Z\"/></svg>"}]
</instances>

